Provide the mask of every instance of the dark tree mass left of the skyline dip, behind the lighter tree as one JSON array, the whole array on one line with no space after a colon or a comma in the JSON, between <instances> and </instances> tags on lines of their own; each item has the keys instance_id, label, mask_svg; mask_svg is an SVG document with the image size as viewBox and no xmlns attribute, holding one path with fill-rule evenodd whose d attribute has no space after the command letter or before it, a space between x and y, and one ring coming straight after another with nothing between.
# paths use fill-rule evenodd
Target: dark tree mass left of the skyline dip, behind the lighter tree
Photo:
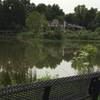
<instances>
[{"instance_id":1,"label":"dark tree mass left of the skyline dip, behind the lighter tree","mask_svg":"<svg viewBox=\"0 0 100 100\"><path fill-rule=\"evenodd\" d=\"M56 18L61 19L64 16L64 12L55 4L53 6L46 6L45 4L36 6L34 3L30 3L30 0L4 0L0 2L0 30L22 30L26 28L25 21L34 11L36 15L33 14L32 17L37 16L38 13L40 17L45 16L48 21Z\"/></svg>"}]
</instances>

